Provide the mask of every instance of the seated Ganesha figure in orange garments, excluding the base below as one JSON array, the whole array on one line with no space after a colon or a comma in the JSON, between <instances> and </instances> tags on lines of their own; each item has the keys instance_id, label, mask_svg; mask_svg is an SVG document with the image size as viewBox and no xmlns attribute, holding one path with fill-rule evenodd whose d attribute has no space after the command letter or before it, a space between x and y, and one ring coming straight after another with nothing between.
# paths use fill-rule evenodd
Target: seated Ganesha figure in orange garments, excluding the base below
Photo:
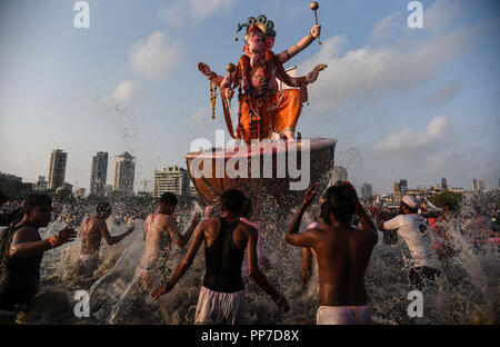
<instances>
[{"instance_id":1,"label":"seated Ganesha figure in orange garments, excluding the base below","mask_svg":"<svg viewBox=\"0 0 500 347\"><path fill-rule=\"evenodd\" d=\"M303 39L278 54L272 51L276 37L273 22L266 16L251 17L244 24L238 24L238 31L243 28L247 29L244 54L237 66L228 65L226 77L212 72L203 62L198 65L210 80L212 112L216 90L220 87L226 122L233 138L250 142L252 139L269 139L276 132L282 139L294 139L302 103L308 100L307 86L317 80L319 71L326 66L319 65L307 76L294 78L286 72L283 63L311 44L320 36L321 27L312 27ZM277 79L296 88L279 90ZM228 101L232 99L236 88L239 91L239 109L238 127L233 131Z\"/></svg>"}]
</instances>

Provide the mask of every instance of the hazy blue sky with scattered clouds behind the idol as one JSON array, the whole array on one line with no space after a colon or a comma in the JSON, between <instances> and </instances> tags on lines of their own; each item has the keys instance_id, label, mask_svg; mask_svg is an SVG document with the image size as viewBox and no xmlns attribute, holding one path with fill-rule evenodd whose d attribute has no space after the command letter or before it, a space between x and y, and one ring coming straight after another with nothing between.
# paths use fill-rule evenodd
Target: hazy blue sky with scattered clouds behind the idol
<instances>
[{"instance_id":1,"label":"hazy blue sky with scattered clouds behind the idol","mask_svg":"<svg viewBox=\"0 0 500 347\"><path fill-rule=\"evenodd\" d=\"M108 184L114 157L134 156L136 190L186 166L192 140L226 129L197 63L237 62L236 27L250 16L274 21L276 52L314 23L309 1L89 0L90 28L77 29L76 2L0 0L0 171L23 181L48 176L54 148L68 152L66 180L87 189L97 151L109 152ZM500 2L421 1L422 29L408 28L410 1L319 2L323 44L286 66L328 65L309 86L302 136L336 138L337 165L377 192L400 178L497 186Z\"/></svg>"}]
</instances>

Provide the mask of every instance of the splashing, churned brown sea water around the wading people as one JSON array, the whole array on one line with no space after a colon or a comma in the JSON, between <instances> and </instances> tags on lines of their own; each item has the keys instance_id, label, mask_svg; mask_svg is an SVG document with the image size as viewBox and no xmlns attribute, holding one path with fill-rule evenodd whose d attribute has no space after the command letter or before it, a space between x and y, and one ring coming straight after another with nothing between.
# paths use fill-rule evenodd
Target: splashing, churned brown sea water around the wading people
<instances>
[{"instance_id":1,"label":"splashing, churned brown sea water around the wading people","mask_svg":"<svg viewBox=\"0 0 500 347\"><path fill-rule=\"evenodd\" d=\"M187 221L200 210L179 211ZM272 208L269 214L276 214ZM291 214L290 214L291 216ZM291 219L290 219L291 220ZM458 255L441 261L442 276L427 281L422 289L422 317L409 317L408 250L399 241L384 244L381 232L366 272L372 317L377 324L493 324L499 321L499 251L493 244L473 246L461 227L463 219L448 226ZM301 230L311 222L309 215ZM126 231L124 224L109 218L111 235ZM187 222L186 222L187 224ZM80 239L44 254L41 265L38 298L26 316L26 323L37 324L193 324L196 306L204 274L203 245L178 285L159 301L152 301L150 290L141 288L137 267L144 249L143 220L133 220L136 230L117 245L102 242L101 265L92 278L78 276ZM56 221L40 229L42 238L64 227ZM263 225L264 250L271 267L263 270L270 284L284 295L290 311L280 315L269 296L243 274L246 284L247 324L314 324L319 306L318 274L308 290L302 291L299 247L284 242L286 225ZM78 228L77 228L78 229ZM166 268L174 270L186 249L172 247ZM406 255L406 256L404 256ZM167 278L167 276L166 276ZM161 284L161 280L158 281ZM76 317L74 294L86 290L90 298L89 317Z\"/></svg>"}]
</instances>

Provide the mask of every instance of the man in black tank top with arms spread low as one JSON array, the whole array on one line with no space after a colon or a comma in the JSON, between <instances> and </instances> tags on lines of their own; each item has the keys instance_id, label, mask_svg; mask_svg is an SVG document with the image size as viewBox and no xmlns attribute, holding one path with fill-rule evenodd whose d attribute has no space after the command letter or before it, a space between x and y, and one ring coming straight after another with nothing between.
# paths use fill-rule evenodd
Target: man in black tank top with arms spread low
<instances>
[{"instance_id":1,"label":"man in black tank top with arms spread low","mask_svg":"<svg viewBox=\"0 0 500 347\"><path fill-rule=\"evenodd\" d=\"M248 275L271 296L279 311L290 308L284 297L278 294L261 272L257 258L257 229L240 220L244 195L238 189L222 194L222 216L202 220L194 232L188 254L179 264L166 287L151 293L153 300L169 293L182 278L204 241L207 270L198 299L194 324L243 324L244 285L241 264L244 250L248 255Z\"/></svg>"}]
</instances>

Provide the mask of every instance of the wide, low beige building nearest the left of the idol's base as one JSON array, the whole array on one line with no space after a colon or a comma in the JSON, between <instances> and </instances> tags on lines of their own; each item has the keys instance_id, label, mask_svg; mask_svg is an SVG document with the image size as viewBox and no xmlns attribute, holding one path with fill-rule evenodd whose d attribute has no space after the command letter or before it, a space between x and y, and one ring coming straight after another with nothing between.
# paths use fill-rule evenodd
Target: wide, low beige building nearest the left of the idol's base
<instances>
[{"instance_id":1,"label":"wide, low beige building nearest the left of the idol's base","mask_svg":"<svg viewBox=\"0 0 500 347\"><path fill-rule=\"evenodd\" d=\"M178 166L170 166L161 171L154 170L154 197L159 198L167 191L178 196L191 194L188 170Z\"/></svg>"}]
</instances>

